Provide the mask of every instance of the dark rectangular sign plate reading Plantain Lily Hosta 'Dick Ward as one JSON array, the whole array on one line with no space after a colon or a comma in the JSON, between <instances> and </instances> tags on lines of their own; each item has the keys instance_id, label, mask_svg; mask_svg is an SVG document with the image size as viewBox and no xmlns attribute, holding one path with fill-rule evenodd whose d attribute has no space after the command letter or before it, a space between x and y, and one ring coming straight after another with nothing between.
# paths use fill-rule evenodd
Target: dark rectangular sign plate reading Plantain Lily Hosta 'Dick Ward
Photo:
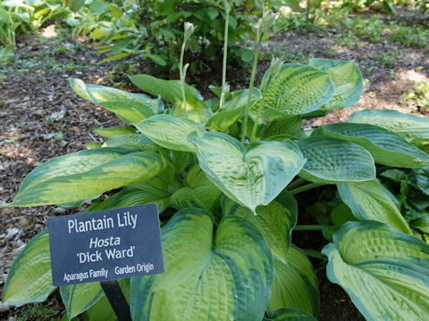
<instances>
[{"instance_id":1,"label":"dark rectangular sign plate reading Plantain Lily Hosta 'Dick Ward","mask_svg":"<svg viewBox=\"0 0 429 321\"><path fill-rule=\"evenodd\" d=\"M55 286L164 272L156 204L48 218Z\"/></svg>"}]
</instances>

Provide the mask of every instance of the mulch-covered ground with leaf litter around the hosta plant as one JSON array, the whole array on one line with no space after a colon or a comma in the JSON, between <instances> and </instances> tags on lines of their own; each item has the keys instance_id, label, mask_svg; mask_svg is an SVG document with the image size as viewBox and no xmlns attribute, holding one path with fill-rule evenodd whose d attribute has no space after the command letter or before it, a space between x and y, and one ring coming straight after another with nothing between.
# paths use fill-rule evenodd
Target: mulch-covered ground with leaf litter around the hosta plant
<instances>
[{"instance_id":1,"label":"mulch-covered ground with leaf litter around the hosta plant","mask_svg":"<svg viewBox=\"0 0 429 321\"><path fill-rule=\"evenodd\" d=\"M351 112L361 108L395 109L427 117L424 109L418 110L415 102L403 97L418 81L429 82L427 50L389 41L368 43L365 39L344 47L340 45L341 39L336 37L338 33L335 29L330 29L329 35L288 31L271 38L263 46L265 62L260 64L258 80L262 78L272 53L286 62L307 62L308 57L354 59L367 79L360 102L353 109L308 120L306 128L346 121ZM390 57L393 62L386 62ZM85 149L85 144L91 141L101 142L100 137L92 134L92 129L120 124L109 111L80 99L68 85L70 77L106 86L113 86L113 78L118 79L114 74L114 63L98 65L100 56L85 39L22 37L15 61L15 65L0 70L0 205L13 201L22 179L40 162ZM228 75L231 89L247 86L248 77L243 74L246 73L231 72ZM213 83L213 70L209 75L205 79L204 75L200 76L203 79L199 86ZM63 209L1 210L0 296L3 296L5 277L13 259L29 239L46 226L46 218L56 212L63 212ZM299 236L299 242L305 244L308 239L309 244L314 244L315 239L322 240L320 235L314 234ZM315 250L322 246L319 243ZM324 262L315 261L315 267L321 281L319 319L363 319L345 292L326 281ZM61 303L56 300L57 296L52 296L45 306L62 309L58 308ZM12 317L13 320L21 315L22 309L0 306L0 319Z\"/></svg>"}]
</instances>

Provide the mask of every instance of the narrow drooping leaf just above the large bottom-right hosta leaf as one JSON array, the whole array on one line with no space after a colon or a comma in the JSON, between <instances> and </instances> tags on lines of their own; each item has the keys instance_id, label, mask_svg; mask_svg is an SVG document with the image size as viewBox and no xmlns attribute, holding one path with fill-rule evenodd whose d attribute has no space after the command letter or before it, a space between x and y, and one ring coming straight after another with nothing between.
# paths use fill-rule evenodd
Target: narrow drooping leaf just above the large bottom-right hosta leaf
<instances>
[{"instance_id":1,"label":"narrow drooping leaf just above the large bottom-right hosta leaf","mask_svg":"<svg viewBox=\"0 0 429 321\"><path fill-rule=\"evenodd\" d=\"M349 206L357 219L383 222L400 232L411 234L396 205L398 201L395 196L378 181L343 183L337 186L341 200Z\"/></svg>"}]
</instances>

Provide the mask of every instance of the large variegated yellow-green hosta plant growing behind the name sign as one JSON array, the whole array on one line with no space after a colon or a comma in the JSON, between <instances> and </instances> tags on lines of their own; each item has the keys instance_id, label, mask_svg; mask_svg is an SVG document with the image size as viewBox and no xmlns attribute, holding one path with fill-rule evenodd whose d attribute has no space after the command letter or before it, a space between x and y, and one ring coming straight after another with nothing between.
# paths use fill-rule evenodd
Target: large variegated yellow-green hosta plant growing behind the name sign
<instances>
[{"instance_id":1,"label":"large variegated yellow-green hosta plant growing behind the name sign","mask_svg":"<svg viewBox=\"0 0 429 321\"><path fill-rule=\"evenodd\" d=\"M272 20L267 12L260 21L257 52ZM9 206L91 200L93 211L155 202L165 272L120 282L134 320L315 320L315 269L291 239L294 228L305 229L296 226L295 195L332 185L342 211L324 226L329 280L368 320L428 319L429 245L376 177L380 166L429 165L413 144L428 139L428 119L357 111L349 122L306 131L302 119L357 103L355 62L273 59L259 87L256 65L257 53L248 89L230 91L223 72L209 100L184 83L182 64L179 80L131 76L147 94L72 78L78 95L127 127L97 128L101 146L39 165ZM422 185L427 191L427 176ZM54 291L44 230L15 260L3 300L21 306ZM60 293L69 318L115 319L97 283Z\"/></svg>"}]
</instances>

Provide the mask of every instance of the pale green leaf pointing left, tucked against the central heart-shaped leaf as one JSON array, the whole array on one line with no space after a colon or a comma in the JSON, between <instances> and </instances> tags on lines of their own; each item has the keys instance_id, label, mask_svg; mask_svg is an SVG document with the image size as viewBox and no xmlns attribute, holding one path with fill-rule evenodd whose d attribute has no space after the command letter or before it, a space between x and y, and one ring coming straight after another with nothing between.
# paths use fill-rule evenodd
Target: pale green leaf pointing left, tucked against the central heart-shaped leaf
<instances>
[{"instance_id":1,"label":"pale green leaf pointing left, tucked against the central heart-shaped leaf","mask_svg":"<svg viewBox=\"0 0 429 321\"><path fill-rule=\"evenodd\" d=\"M166 114L152 116L135 126L156 144L175 151L195 152L194 144L186 137L193 131L204 133L195 121Z\"/></svg>"}]
</instances>

